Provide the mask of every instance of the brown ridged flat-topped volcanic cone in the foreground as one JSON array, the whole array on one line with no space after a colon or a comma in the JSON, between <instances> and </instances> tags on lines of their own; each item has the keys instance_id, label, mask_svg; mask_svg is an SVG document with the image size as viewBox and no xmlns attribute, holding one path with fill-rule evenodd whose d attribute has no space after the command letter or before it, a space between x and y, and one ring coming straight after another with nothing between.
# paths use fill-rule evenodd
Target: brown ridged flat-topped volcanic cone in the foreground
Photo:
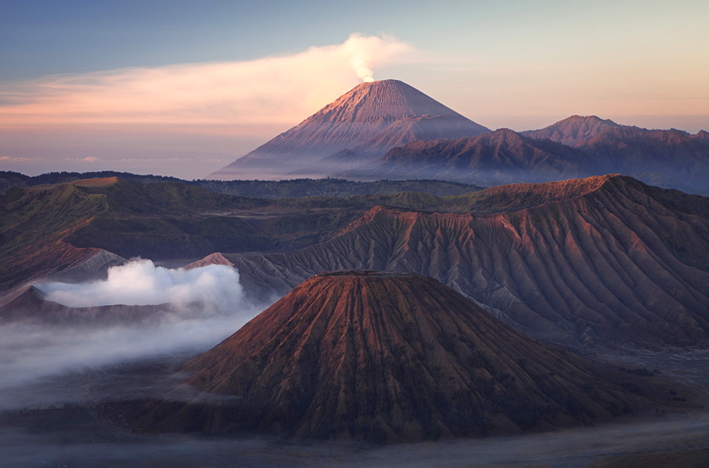
<instances>
[{"instance_id":1,"label":"brown ridged flat-topped volcanic cone in the foreground","mask_svg":"<svg viewBox=\"0 0 709 468\"><path fill-rule=\"evenodd\" d=\"M197 399L153 404L140 423L391 442L631 411L634 397L592 369L432 278L324 273L189 361L184 371L193 374L184 383L202 392ZM206 398L226 402L208 406Z\"/></svg>"}]
</instances>

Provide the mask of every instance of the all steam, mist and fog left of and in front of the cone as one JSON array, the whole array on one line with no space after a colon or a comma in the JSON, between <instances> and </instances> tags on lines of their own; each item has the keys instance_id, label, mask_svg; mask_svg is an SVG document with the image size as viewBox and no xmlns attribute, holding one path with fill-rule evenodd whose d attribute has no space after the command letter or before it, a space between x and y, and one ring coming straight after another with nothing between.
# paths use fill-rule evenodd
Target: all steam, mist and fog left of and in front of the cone
<instances>
[{"instance_id":1,"label":"all steam, mist and fog left of and in front of the cone","mask_svg":"<svg viewBox=\"0 0 709 468\"><path fill-rule=\"evenodd\" d=\"M150 380L145 375L155 372L145 369L155 363L158 367L179 363L211 348L267 304L248 304L238 272L225 266L169 270L150 261L133 261L111 269L103 281L40 288L52 300L74 307L161 304L166 299L178 307L157 321L121 326L36 321L0 326L0 466L586 466L610 455L708 445L707 413L388 447L132 434L96 418L90 411L92 402L128 399L141 392L162 394L179 377Z\"/></svg>"}]
</instances>

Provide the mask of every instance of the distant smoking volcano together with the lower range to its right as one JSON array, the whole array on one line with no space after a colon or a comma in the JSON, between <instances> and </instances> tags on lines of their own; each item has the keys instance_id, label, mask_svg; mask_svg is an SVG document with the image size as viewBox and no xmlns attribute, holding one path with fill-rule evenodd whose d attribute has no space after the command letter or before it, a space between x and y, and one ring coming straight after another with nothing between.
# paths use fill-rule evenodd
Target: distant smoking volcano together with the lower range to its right
<instances>
[{"instance_id":1,"label":"distant smoking volcano together with the lower range to its right","mask_svg":"<svg viewBox=\"0 0 709 468\"><path fill-rule=\"evenodd\" d=\"M494 186L622 173L709 193L709 132L574 115L490 132L401 81L363 83L209 178L432 178Z\"/></svg>"}]
</instances>

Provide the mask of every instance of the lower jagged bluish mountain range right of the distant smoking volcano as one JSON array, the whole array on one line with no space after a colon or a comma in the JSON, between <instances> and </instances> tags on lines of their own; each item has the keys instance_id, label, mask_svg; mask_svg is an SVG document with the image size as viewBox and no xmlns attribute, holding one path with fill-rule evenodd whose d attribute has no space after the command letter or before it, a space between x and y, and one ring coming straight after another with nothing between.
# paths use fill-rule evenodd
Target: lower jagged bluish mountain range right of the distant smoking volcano
<instances>
[{"instance_id":1,"label":"lower jagged bluish mountain range right of the distant smoking volcano","mask_svg":"<svg viewBox=\"0 0 709 468\"><path fill-rule=\"evenodd\" d=\"M689 193L709 190L709 133L645 130L574 115L542 130L412 142L340 176L435 178L496 186L622 173Z\"/></svg>"}]
</instances>

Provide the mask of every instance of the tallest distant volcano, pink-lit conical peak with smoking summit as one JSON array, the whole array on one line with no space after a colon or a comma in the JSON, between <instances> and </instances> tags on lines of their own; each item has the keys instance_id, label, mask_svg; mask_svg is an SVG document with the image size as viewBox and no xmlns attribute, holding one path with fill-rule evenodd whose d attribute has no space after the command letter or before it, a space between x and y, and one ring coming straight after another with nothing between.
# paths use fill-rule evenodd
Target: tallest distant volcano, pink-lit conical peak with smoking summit
<instances>
[{"instance_id":1,"label":"tallest distant volcano, pink-lit conical peak with smoking summit","mask_svg":"<svg viewBox=\"0 0 709 468\"><path fill-rule=\"evenodd\" d=\"M352 169L408 142L473 137L489 131L402 81L372 81L355 86L208 178L311 171L325 175ZM314 165L317 169L310 169Z\"/></svg>"}]
</instances>

